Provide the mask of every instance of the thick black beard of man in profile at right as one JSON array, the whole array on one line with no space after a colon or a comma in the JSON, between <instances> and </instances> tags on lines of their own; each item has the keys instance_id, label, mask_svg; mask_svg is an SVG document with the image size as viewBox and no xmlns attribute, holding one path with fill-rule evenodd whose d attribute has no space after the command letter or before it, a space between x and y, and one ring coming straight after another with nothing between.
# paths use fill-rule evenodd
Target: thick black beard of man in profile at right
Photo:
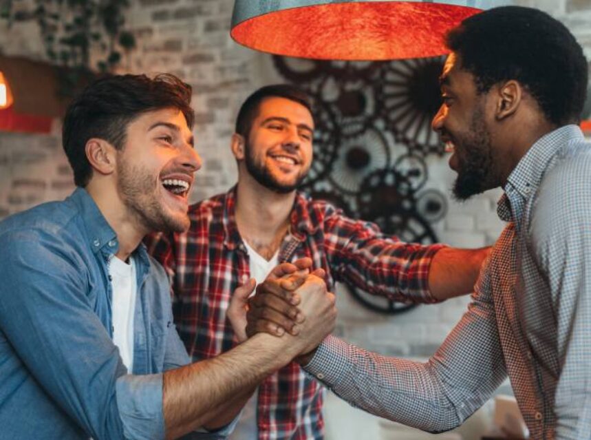
<instances>
[{"instance_id":1,"label":"thick black beard of man in profile at right","mask_svg":"<svg viewBox=\"0 0 591 440\"><path fill-rule=\"evenodd\" d=\"M491 134L484 123L482 107L473 114L467 134L455 138L455 154L458 155L458 177L453 183L456 200L468 200L497 186L494 171ZM458 148L459 147L459 148Z\"/></svg>"}]
</instances>

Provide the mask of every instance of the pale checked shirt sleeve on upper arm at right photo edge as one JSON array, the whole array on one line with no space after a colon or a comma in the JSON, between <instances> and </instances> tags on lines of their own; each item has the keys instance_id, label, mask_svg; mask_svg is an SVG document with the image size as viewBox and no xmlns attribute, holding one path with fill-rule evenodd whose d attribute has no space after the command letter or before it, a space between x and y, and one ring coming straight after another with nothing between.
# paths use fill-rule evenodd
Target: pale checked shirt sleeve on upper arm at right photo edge
<instances>
[{"instance_id":1,"label":"pale checked shirt sleeve on upper arm at right photo edge","mask_svg":"<svg viewBox=\"0 0 591 440\"><path fill-rule=\"evenodd\" d=\"M557 439L591 438L591 155L578 155L544 178L530 224L530 246L548 280L556 319ZM538 298L536 298L539 301Z\"/></svg>"}]
</instances>

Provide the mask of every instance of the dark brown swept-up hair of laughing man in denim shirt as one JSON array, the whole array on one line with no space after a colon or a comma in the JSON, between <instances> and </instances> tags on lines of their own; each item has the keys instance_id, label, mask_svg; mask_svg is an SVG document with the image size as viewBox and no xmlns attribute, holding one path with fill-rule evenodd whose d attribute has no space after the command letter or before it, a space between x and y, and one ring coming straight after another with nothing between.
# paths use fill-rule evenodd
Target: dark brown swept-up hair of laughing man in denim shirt
<instances>
[{"instance_id":1,"label":"dark brown swept-up hair of laughing man in denim shirt","mask_svg":"<svg viewBox=\"0 0 591 440\"><path fill-rule=\"evenodd\" d=\"M127 126L146 112L179 109L189 128L193 128L191 94L191 86L171 74L155 78L105 76L86 87L69 105L63 121L63 149L74 171L74 183L85 187L92 177L85 151L89 139L104 139L122 149Z\"/></svg>"}]
</instances>

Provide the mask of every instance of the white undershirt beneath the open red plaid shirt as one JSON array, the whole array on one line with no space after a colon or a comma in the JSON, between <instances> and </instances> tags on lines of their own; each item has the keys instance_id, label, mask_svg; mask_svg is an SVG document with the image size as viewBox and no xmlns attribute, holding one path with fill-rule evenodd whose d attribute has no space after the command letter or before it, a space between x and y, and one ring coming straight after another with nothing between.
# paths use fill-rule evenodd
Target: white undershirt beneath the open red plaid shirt
<instances>
[{"instance_id":1,"label":"white undershirt beneath the open red plaid shirt","mask_svg":"<svg viewBox=\"0 0 591 440\"><path fill-rule=\"evenodd\" d=\"M248 246L246 241L244 242L246 250L248 251L248 260L250 268L250 277L257 280L257 284L264 282L267 275L272 271L275 266L279 263L279 251L273 255L273 257L267 261L261 257ZM248 399L244 409L241 412L240 419L234 429L234 432L230 434L230 440L254 440L258 438L257 429L257 395L259 394L259 388L255 390L255 393Z\"/></svg>"}]
</instances>

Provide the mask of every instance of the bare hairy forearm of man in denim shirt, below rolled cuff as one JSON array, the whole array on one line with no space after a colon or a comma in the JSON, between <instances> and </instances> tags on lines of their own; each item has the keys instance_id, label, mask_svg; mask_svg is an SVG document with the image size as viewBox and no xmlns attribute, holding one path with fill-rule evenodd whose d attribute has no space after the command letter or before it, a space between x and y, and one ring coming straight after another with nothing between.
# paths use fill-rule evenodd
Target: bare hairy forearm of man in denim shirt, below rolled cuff
<instances>
[{"instance_id":1,"label":"bare hairy forearm of man in denim shirt, below rolled cuff","mask_svg":"<svg viewBox=\"0 0 591 440\"><path fill-rule=\"evenodd\" d=\"M286 337L290 336L255 335L228 353L164 373L166 438L175 439L205 424L223 422L217 411L224 404L255 388L297 355L292 353L295 344L286 343Z\"/></svg>"}]
</instances>

